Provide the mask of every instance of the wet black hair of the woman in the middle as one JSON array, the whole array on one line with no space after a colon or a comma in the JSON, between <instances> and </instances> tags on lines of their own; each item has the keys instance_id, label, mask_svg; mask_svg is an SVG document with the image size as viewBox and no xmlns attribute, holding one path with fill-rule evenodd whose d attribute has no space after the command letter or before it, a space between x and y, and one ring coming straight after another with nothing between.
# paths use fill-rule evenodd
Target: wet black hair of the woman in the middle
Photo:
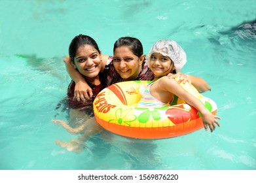
<instances>
[{"instance_id":1,"label":"wet black hair of the woman in the middle","mask_svg":"<svg viewBox=\"0 0 256 183\"><path fill-rule=\"evenodd\" d=\"M135 37L120 37L114 44L113 52L116 48L128 46L132 53L140 58L143 55L143 46L139 39Z\"/></svg>"}]
</instances>

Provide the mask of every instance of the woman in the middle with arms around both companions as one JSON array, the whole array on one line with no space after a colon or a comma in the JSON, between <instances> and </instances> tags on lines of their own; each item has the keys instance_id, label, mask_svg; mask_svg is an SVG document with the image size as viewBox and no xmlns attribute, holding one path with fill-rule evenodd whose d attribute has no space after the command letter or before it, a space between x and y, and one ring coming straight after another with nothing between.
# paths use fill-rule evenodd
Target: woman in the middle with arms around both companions
<instances>
[{"instance_id":1,"label":"woman in the middle with arms around both companions","mask_svg":"<svg viewBox=\"0 0 256 183\"><path fill-rule=\"evenodd\" d=\"M134 37L121 37L113 48L114 56L102 56L103 83L105 87L126 80L153 80L154 75L145 63L143 46L141 42ZM69 56L64 59L67 72L75 82L74 98L77 101L85 101L92 97L92 88L88 86L81 74L75 70L69 61ZM181 68L185 63L180 63ZM179 78L184 82L189 80L191 84L199 91L206 92L210 90L208 83L199 77L183 75L179 68L176 68L172 74L179 74ZM169 75L170 76L170 75Z\"/></svg>"}]
</instances>

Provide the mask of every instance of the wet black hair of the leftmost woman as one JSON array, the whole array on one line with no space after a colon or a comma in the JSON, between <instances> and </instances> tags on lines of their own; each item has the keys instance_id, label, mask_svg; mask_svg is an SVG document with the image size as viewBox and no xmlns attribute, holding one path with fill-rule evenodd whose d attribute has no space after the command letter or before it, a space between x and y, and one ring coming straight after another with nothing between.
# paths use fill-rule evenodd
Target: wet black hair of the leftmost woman
<instances>
[{"instance_id":1,"label":"wet black hair of the leftmost woman","mask_svg":"<svg viewBox=\"0 0 256 183\"><path fill-rule=\"evenodd\" d=\"M78 48L86 44L93 46L100 53L98 44L94 39L92 39L92 37L88 35L82 35L82 34L77 35L72 39L71 43L69 44L69 57L73 63L74 63L74 58L75 58L75 55L77 54Z\"/></svg>"}]
</instances>

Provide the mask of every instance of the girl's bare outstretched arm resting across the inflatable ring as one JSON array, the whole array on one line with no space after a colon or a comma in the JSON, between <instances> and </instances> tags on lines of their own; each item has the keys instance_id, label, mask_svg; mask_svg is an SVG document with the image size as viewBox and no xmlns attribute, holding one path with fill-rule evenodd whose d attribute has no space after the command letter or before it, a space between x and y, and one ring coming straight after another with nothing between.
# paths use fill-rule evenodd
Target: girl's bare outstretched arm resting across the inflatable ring
<instances>
[{"instance_id":1,"label":"girl's bare outstretched arm resting across the inflatable ring","mask_svg":"<svg viewBox=\"0 0 256 183\"><path fill-rule=\"evenodd\" d=\"M216 120L216 118L220 119L219 116L211 114L211 112L209 112L209 110L204 107L204 105L196 97L183 89L174 79L170 80L166 77L159 82L164 91L174 93L175 95L183 99L183 101L186 101L189 105L196 108L202 114L202 121L204 123L204 128L206 129L206 131L209 127L211 132L213 132L215 130L215 124L220 126L219 122L217 122Z\"/></svg>"}]
</instances>

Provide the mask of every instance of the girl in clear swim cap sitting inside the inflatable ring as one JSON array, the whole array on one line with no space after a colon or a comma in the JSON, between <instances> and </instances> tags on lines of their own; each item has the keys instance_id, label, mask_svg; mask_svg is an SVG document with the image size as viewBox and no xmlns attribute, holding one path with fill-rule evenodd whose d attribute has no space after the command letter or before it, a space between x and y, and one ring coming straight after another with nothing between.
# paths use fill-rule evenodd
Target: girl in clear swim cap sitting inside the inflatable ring
<instances>
[{"instance_id":1,"label":"girl in clear swim cap sitting inside the inflatable ring","mask_svg":"<svg viewBox=\"0 0 256 183\"><path fill-rule=\"evenodd\" d=\"M168 106L174 95L177 95L202 114L202 122L206 131L209 127L210 131L213 132L216 125L220 126L216 120L220 119L219 116L211 114L196 97L183 89L174 78L166 76L174 70L180 71L187 62L187 56L177 42L169 39L157 41L149 51L147 60L155 78L145 89L138 107Z\"/></svg>"}]
</instances>

